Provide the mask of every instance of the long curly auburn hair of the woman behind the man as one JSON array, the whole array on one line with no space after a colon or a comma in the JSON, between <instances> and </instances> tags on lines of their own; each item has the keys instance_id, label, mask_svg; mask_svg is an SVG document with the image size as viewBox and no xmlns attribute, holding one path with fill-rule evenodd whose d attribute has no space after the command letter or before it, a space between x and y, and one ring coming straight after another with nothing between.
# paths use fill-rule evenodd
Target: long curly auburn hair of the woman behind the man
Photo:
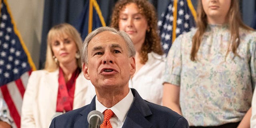
<instances>
[{"instance_id":1,"label":"long curly auburn hair of the woman behind the man","mask_svg":"<svg viewBox=\"0 0 256 128\"><path fill-rule=\"evenodd\" d=\"M119 0L114 6L110 26L119 30L118 22L120 20L120 12L130 3L135 3L138 6L140 14L146 17L150 29L146 32L145 42L142 44L140 50L140 62L145 64L148 61L148 53L164 54L160 43L160 36L158 35L157 16L154 6L147 0Z\"/></svg>"}]
</instances>

